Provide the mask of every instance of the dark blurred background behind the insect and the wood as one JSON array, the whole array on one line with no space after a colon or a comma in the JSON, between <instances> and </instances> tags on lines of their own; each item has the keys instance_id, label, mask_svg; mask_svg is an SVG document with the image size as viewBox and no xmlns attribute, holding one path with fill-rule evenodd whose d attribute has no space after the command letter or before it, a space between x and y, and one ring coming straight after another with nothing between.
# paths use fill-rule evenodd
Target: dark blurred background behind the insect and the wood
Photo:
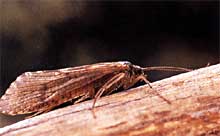
<instances>
[{"instance_id":1,"label":"dark blurred background behind the insect and the wood","mask_svg":"<svg viewBox=\"0 0 220 136\"><path fill-rule=\"evenodd\" d=\"M1 0L0 96L21 73L106 61L220 61L219 1ZM175 73L149 73L155 81ZM0 116L0 127L22 119Z\"/></svg>"}]
</instances>

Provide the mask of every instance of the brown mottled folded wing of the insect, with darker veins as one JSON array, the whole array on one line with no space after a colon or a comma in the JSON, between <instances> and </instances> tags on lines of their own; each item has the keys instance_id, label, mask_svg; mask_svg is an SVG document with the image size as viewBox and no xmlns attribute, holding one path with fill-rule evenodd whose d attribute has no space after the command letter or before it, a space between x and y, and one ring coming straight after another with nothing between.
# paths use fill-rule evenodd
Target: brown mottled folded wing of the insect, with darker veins
<instances>
[{"instance_id":1,"label":"brown mottled folded wing of the insect, with darker veins","mask_svg":"<svg viewBox=\"0 0 220 136\"><path fill-rule=\"evenodd\" d=\"M106 74L128 69L127 62L84 65L58 70L26 72L11 83L0 99L0 112L16 115L40 111L33 109L55 93L79 91ZM58 106L58 105L57 105Z\"/></svg>"}]
</instances>

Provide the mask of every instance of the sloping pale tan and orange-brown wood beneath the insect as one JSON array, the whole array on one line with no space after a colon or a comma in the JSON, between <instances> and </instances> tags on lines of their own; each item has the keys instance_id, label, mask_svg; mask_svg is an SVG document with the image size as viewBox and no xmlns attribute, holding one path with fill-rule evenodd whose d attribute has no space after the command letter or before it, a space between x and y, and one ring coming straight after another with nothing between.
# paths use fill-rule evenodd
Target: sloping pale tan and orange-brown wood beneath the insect
<instances>
[{"instance_id":1,"label":"sloping pale tan and orange-brown wood beneath the insect","mask_svg":"<svg viewBox=\"0 0 220 136\"><path fill-rule=\"evenodd\" d=\"M86 101L0 129L0 135L220 135L220 64ZM155 90L171 104L155 95Z\"/></svg>"}]
</instances>

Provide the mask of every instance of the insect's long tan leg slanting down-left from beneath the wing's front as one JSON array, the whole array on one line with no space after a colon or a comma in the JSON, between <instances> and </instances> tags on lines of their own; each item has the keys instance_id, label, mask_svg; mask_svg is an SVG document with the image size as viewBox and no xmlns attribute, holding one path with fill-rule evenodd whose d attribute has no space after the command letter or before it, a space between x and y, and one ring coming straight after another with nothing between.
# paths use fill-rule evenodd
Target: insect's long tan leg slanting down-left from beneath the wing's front
<instances>
[{"instance_id":1,"label":"insect's long tan leg slanting down-left from beneath the wing's front","mask_svg":"<svg viewBox=\"0 0 220 136\"><path fill-rule=\"evenodd\" d=\"M101 95L106 90L108 90L110 87L112 87L114 84L121 81L124 77L125 77L125 73L119 73L119 74L115 75L114 77L112 77L108 82L106 82L96 93L96 95L94 97L93 104L92 104L92 109L95 107L95 103L101 97Z\"/></svg>"}]
</instances>

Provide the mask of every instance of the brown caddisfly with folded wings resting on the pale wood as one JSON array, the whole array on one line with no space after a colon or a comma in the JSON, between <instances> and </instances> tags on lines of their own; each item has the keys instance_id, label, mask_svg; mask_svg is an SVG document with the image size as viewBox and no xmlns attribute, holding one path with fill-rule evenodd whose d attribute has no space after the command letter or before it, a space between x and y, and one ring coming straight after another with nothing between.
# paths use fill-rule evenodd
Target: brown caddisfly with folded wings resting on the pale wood
<instances>
[{"instance_id":1,"label":"brown caddisfly with folded wings resting on the pale wood","mask_svg":"<svg viewBox=\"0 0 220 136\"><path fill-rule=\"evenodd\" d=\"M127 61L105 62L58 70L25 72L11 83L0 99L0 112L38 115L74 100L74 103L108 95L119 87L128 89L140 80L147 84L147 71L191 71L180 67L142 68Z\"/></svg>"}]
</instances>

